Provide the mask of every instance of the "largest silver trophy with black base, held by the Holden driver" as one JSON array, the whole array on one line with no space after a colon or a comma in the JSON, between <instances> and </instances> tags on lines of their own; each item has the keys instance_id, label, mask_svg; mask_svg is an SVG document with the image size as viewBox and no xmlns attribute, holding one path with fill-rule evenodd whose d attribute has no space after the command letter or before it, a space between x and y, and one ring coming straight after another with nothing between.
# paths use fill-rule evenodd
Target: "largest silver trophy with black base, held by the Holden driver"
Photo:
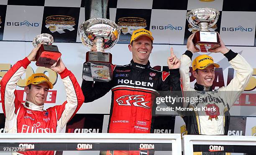
<instances>
[{"instance_id":1,"label":"largest silver trophy with black base, held by the Holden driver","mask_svg":"<svg viewBox=\"0 0 256 155\"><path fill-rule=\"evenodd\" d=\"M79 37L88 47L96 47L97 51L86 52L82 78L87 81L112 80L112 54L104 52L113 47L120 36L120 28L113 21L104 18L93 18L79 27Z\"/></svg>"}]
</instances>

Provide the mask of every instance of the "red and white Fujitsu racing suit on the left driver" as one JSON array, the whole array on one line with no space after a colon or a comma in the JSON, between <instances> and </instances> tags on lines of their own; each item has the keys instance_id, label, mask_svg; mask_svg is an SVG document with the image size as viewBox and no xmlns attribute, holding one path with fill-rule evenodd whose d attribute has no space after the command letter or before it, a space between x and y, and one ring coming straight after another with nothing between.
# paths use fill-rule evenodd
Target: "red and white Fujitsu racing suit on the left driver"
<instances>
[{"instance_id":1,"label":"red and white Fujitsu racing suit on the left driver","mask_svg":"<svg viewBox=\"0 0 256 155\"><path fill-rule=\"evenodd\" d=\"M67 92L67 101L44 110L38 106L18 100L16 83L30 64L27 57L19 60L1 80L1 100L5 114L6 133L58 133L76 114L84 102L84 95L73 73L65 68L59 73ZM21 154L21 153L13 153ZM24 155L53 155L54 151L27 151Z\"/></svg>"}]
</instances>

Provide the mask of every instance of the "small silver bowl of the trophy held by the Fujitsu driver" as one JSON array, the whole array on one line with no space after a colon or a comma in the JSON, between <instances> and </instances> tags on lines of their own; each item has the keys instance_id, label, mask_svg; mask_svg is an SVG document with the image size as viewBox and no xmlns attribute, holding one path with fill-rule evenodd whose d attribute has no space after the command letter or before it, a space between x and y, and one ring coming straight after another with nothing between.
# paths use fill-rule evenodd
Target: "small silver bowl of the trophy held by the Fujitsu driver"
<instances>
[{"instance_id":1,"label":"small silver bowl of the trophy held by the Fujitsu driver","mask_svg":"<svg viewBox=\"0 0 256 155\"><path fill-rule=\"evenodd\" d=\"M34 47L38 47L39 44L51 45L54 42L53 36L48 33L42 33L34 37L32 44Z\"/></svg>"}]
</instances>

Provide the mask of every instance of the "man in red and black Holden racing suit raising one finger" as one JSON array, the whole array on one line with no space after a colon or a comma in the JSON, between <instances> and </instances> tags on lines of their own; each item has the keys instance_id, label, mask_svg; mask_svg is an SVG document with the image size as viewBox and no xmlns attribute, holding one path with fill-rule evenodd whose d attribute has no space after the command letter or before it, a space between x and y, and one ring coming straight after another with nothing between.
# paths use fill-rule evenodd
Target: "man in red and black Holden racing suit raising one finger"
<instances>
[{"instance_id":1,"label":"man in red and black Holden racing suit raising one finger","mask_svg":"<svg viewBox=\"0 0 256 155\"><path fill-rule=\"evenodd\" d=\"M151 118L154 113L158 91L181 90L179 60L168 72L153 69L148 57L152 50L153 37L145 29L135 30L129 50L133 60L128 65L115 65L110 82L83 80L85 101L92 102L112 91L108 133L151 133ZM96 50L92 47L91 49ZM177 63L179 62L179 63ZM177 68L175 68L177 67ZM108 151L107 155L145 155L140 151Z\"/></svg>"}]
</instances>

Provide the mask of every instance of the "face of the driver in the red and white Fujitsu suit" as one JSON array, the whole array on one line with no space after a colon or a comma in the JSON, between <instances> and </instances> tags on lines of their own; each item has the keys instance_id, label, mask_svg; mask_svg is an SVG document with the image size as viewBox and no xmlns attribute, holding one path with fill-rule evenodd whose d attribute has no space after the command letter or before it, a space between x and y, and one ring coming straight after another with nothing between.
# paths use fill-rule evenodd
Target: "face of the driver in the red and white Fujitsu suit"
<instances>
[{"instance_id":1,"label":"face of the driver in the red and white Fujitsu suit","mask_svg":"<svg viewBox=\"0 0 256 155\"><path fill-rule=\"evenodd\" d=\"M26 100L34 103L35 105L43 105L46 100L48 91L49 85L46 82L40 83L38 85L31 85L30 89L28 86L26 86Z\"/></svg>"}]
</instances>

